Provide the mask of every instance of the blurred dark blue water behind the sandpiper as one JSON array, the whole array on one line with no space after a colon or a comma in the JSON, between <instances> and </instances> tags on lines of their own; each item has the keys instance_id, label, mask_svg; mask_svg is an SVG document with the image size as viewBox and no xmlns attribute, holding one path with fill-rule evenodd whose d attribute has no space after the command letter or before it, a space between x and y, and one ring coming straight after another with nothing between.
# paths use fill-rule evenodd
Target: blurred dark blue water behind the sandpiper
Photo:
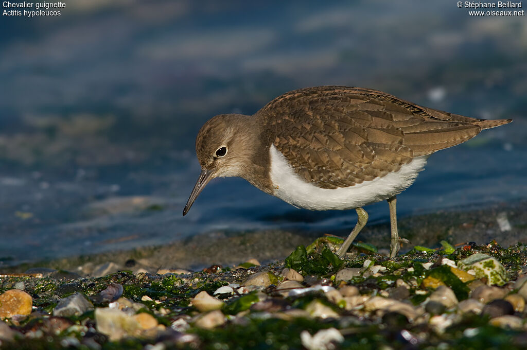
<instances>
[{"instance_id":1,"label":"blurred dark blue water behind the sandpiper","mask_svg":"<svg viewBox=\"0 0 527 350\"><path fill-rule=\"evenodd\" d=\"M68 3L3 17L0 262L159 245L211 230L345 235L352 211L309 212L217 179L189 215L194 138L215 114L340 84L514 123L434 154L401 215L527 197L527 23L455 2ZM366 208L387 222L386 203Z\"/></svg>"}]
</instances>

